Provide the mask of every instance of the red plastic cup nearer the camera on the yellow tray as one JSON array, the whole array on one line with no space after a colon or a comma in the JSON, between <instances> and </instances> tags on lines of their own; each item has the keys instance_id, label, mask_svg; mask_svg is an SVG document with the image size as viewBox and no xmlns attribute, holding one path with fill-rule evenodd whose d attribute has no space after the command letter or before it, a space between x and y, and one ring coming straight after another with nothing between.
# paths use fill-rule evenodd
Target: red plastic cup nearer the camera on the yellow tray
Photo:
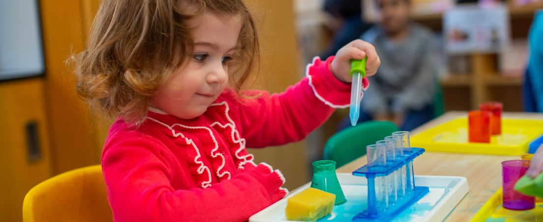
<instances>
[{"instance_id":1,"label":"red plastic cup nearer the camera on the yellow tray","mask_svg":"<svg viewBox=\"0 0 543 222\"><path fill-rule=\"evenodd\" d=\"M470 142L490 142L490 116L488 111L474 110L468 113Z\"/></svg>"}]
</instances>

